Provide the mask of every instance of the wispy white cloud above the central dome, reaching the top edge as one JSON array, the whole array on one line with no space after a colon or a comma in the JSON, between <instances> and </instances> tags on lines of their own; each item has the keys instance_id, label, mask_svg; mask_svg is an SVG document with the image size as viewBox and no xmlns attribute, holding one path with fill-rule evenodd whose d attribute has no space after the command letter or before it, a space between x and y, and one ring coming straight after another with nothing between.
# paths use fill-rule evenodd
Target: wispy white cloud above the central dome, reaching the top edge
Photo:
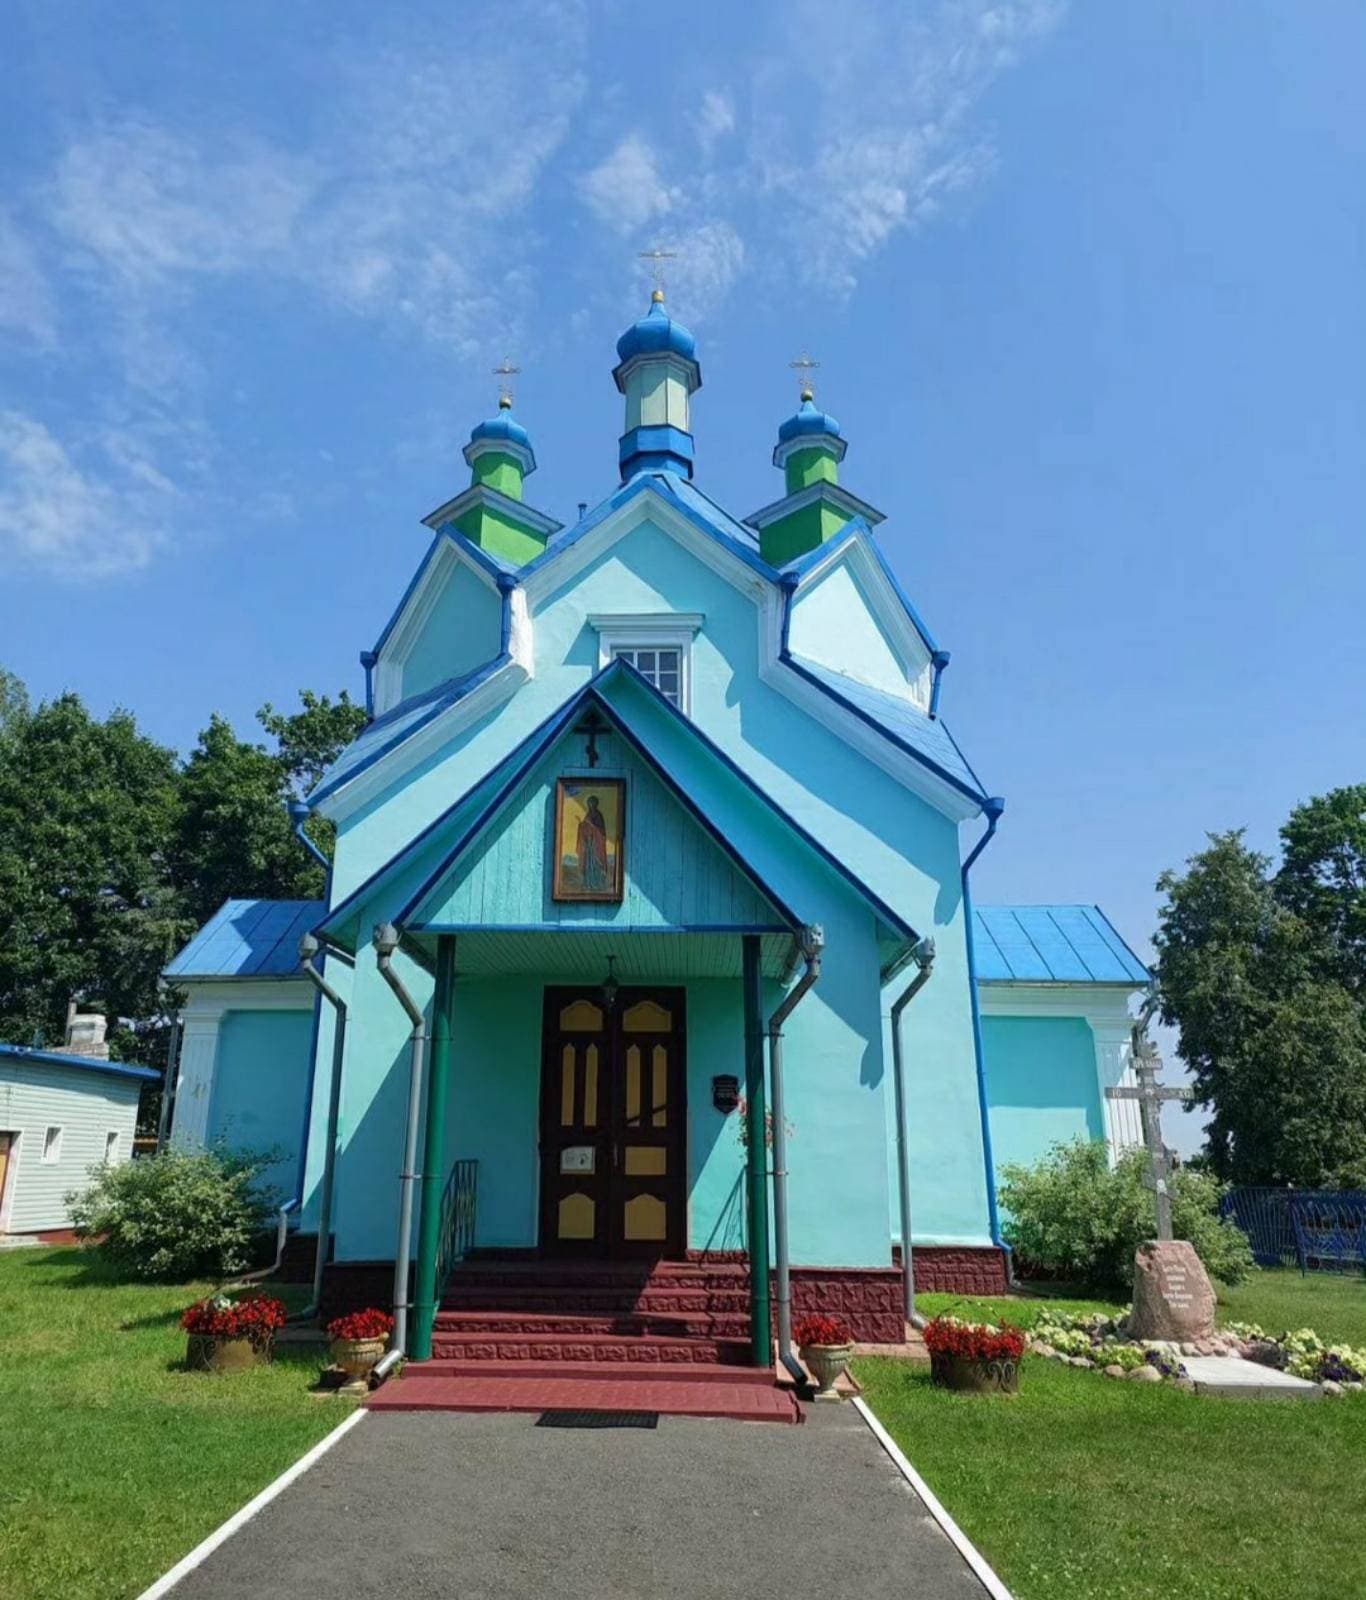
<instances>
[{"instance_id":1,"label":"wispy white cloud above the central dome, reaching the top edge","mask_svg":"<svg viewBox=\"0 0 1366 1600\"><path fill-rule=\"evenodd\" d=\"M739 262L765 262L789 283L849 294L869 258L993 170L981 101L1062 11L1064 0L849 0L832 30L825 0L789 0L755 42L744 93L704 91L691 118L701 162L662 128L651 144L646 118L584 176L584 200L619 234L667 218L670 242L725 237L733 278ZM680 248L670 301L715 306L717 262L715 250L693 262Z\"/></svg>"}]
</instances>

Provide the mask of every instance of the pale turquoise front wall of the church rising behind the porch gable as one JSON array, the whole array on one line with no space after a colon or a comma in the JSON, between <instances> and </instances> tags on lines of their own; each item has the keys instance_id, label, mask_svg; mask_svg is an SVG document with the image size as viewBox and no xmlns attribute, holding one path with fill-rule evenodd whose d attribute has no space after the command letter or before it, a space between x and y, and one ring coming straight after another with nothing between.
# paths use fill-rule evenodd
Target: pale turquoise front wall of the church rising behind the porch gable
<instances>
[{"instance_id":1,"label":"pale turquoise front wall of the church rising behind the porch gable","mask_svg":"<svg viewBox=\"0 0 1366 1600\"><path fill-rule=\"evenodd\" d=\"M827 626L845 638L864 637L872 624L857 586L846 586L843 602L840 594L841 584L835 582ZM667 611L704 616L693 646L691 715L699 726L837 858L877 885L917 931L934 936L936 974L905 1022L915 1232L926 1242L987 1243L958 829L763 682L753 600L656 522L635 526L539 602L534 675L505 704L456 733L421 766L341 821L333 902L397 854L597 672L598 637L587 622L590 613ZM435 621L429 626L430 670L449 675L440 666L443 630ZM873 659L883 645L865 640L856 648L867 648ZM729 800L718 798L717 805L718 819L729 827ZM829 869L797 861L782 829L774 827L769 838L761 832L752 827L747 858L763 867L803 918L824 923L827 936L821 984L789 1027L793 1259L886 1264L894 1187L888 1162L872 1152L889 1150L894 1133L881 1021L894 989L886 995L878 990L878 949L865 909L849 906L848 891L832 883ZM368 930L377 917L366 909L360 920ZM414 992L427 992L425 974L417 968L413 973ZM629 971L621 976L630 978ZM376 982L373 958L363 950L353 978L349 1155L342 1163L363 1197L345 1195L353 1186L344 1179L339 1203L344 1256L352 1259L392 1253L398 1162L398 1123L392 1118L406 1091L406 1059L400 1064L403 1016L387 990L376 992ZM529 1014L531 1032L539 1035L539 1003ZM326 1027L318 1050L325 1067ZM533 1072L539 1070L539 1037L523 1040L518 1050L533 1062ZM699 1069L696 1048L691 1059ZM318 1099L310 1176L318 1150ZM696 1098L693 1106L696 1110ZM721 1134L713 1141L712 1154L694 1173L694 1238L699 1226L717 1214L729 1182L728 1139ZM453 1154L461 1154L459 1139L456 1146Z\"/></svg>"}]
</instances>

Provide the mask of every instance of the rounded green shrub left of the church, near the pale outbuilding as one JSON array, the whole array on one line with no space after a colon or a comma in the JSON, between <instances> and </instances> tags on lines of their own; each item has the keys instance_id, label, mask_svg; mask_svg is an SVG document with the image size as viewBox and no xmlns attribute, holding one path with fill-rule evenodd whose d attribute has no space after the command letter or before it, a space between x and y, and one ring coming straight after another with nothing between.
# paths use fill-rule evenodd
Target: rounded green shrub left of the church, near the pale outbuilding
<instances>
[{"instance_id":1,"label":"rounded green shrub left of the church, near the pale outbuilding","mask_svg":"<svg viewBox=\"0 0 1366 1600\"><path fill-rule=\"evenodd\" d=\"M162 1150L93 1166L67 1195L82 1238L138 1278L232 1277L245 1270L275 1208L258 1182L270 1154Z\"/></svg>"}]
</instances>

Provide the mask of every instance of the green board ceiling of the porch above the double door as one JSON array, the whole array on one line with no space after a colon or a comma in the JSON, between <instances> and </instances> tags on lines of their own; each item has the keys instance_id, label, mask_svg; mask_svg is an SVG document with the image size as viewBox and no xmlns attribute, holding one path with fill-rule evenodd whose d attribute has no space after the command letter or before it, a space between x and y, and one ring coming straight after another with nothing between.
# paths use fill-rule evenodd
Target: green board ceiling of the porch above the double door
<instances>
[{"instance_id":1,"label":"green board ceiling of the porch above the double door","mask_svg":"<svg viewBox=\"0 0 1366 1600\"><path fill-rule=\"evenodd\" d=\"M537 973L545 978L601 982L608 957L624 984L686 978L739 978L741 934L758 930L659 928L409 928L429 947L438 933L454 933L456 971L472 978ZM782 978L793 952L785 928L760 933L765 978Z\"/></svg>"}]
</instances>

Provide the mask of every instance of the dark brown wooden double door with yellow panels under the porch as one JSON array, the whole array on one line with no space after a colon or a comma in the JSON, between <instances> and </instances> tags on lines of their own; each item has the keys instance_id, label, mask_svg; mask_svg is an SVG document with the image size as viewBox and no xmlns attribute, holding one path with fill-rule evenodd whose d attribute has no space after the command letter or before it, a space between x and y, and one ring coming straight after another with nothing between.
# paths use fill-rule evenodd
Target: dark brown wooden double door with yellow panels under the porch
<instances>
[{"instance_id":1,"label":"dark brown wooden double door with yellow panels under the porch","mask_svg":"<svg viewBox=\"0 0 1366 1600\"><path fill-rule=\"evenodd\" d=\"M688 1245L683 989L547 989L541 1250L648 1259Z\"/></svg>"}]
</instances>

